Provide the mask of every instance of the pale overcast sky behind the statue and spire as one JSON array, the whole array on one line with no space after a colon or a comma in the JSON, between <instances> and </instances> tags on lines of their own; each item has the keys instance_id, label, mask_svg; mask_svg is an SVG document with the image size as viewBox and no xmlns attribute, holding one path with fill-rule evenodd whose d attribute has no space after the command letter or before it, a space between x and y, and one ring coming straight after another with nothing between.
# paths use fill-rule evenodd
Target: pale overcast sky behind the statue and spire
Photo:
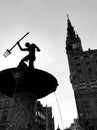
<instances>
[{"instance_id":1,"label":"pale overcast sky behind the statue and spire","mask_svg":"<svg viewBox=\"0 0 97 130\"><path fill-rule=\"evenodd\" d=\"M35 67L53 74L59 83L56 95L64 128L77 118L65 51L67 13L82 40L84 50L97 48L97 0L0 0L0 70L16 67L26 55L18 47L3 57L26 32L22 42L35 42L41 49ZM54 94L41 99L52 106L55 126L63 128Z\"/></svg>"}]
</instances>

